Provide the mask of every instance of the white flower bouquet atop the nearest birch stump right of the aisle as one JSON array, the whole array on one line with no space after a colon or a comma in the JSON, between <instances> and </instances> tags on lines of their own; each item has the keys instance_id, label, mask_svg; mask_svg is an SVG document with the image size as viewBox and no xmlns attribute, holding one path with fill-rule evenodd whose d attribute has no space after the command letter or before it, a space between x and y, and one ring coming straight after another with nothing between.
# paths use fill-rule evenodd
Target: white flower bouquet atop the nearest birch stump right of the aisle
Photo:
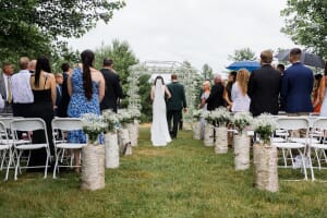
<instances>
[{"instance_id":1,"label":"white flower bouquet atop the nearest birch stump right of the aisle","mask_svg":"<svg viewBox=\"0 0 327 218\"><path fill-rule=\"evenodd\" d=\"M262 113L253 120L253 130L265 144L269 143L270 136L276 130L276 125L277 123L270 113Z\"/></svg>"}]
</instances>

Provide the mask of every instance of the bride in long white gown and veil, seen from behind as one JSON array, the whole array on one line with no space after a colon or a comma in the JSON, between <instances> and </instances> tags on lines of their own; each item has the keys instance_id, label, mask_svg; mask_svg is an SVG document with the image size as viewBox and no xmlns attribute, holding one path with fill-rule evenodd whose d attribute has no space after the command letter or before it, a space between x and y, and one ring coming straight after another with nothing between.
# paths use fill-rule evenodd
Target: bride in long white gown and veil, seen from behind
<instances>
[{"instance_id":1,"label":"bride in long white gown and veil, seen from behind","mask_svg":"<svg viewBox=\"0 0 327 218\"><path fill-rule=\"evenodd\" d=\"M165 94L167 94L168 98L171 97L162 76L158 75L150 93L150 98L154 101L152 124L152 142L154 146L166 146L167 143L171 142L166 117Z\"/></svg>"}]
</instances>

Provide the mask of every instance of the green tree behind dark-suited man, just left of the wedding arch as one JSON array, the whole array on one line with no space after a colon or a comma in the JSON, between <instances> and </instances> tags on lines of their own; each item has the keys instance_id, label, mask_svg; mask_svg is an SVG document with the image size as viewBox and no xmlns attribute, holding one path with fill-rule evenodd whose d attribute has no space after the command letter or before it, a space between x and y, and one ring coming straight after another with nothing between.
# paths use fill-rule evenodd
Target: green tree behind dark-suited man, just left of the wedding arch
<instances>
[{"instance_id":1,"label":"green tree behind dark-suited man, just left of the wedding arch","mask_svg":"<svg viewBox=\"0 0 327 218\"><path fill-rule=\"evenodd\" d=\"M114 39L110 46L105 46L102 44L100 48L95 50L95 66L97 69L101 69L105 58L111 58L113 60L113 68L120 76L123 96L125 96L129 88L128 77L130 75L130 66L138 63L138 60L132 51L129 43ZM126 99L123 100L122 105L126 106Z\"/></svg>"}]
</instances>

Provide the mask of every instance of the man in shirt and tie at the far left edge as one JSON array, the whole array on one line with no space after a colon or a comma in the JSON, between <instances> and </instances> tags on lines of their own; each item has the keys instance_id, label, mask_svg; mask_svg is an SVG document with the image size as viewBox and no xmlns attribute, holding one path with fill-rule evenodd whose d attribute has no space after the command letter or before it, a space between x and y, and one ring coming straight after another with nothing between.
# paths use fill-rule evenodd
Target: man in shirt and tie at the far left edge
<instances>
[{"instance_id":1,"label":"man in shirt and tie at the far left edge","mask_svg":"<svg viewBox=\"0 0 327 218\"><path fill-rule=\"evenodd\" d=\"M1 113L12 113L11 76L13 71L11 63L3 64L0 74L0 94L4 100L4 107L0 109Z\"/></svg>"}]
</instances>

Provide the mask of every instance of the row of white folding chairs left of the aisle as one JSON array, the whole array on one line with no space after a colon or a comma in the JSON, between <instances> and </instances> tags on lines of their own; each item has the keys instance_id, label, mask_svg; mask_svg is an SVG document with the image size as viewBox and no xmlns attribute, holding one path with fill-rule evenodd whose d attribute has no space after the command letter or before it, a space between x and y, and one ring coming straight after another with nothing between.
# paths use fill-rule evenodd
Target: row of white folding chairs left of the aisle
<instances>
[{"instance_id":1,"label":"row of white folding chairs left of the aisle","mask_svg":"<svg viewBox=\"0 0 327 218\"><path fill-rule=\"evenodd\" d=\"M1 168L0 170L7 168L5 178L8 180L9 170L14 168L14 179L17 179L17 174L21 173L21 169L27 168L45 168L45 175L47 178L48 167L50 164L50 147L49 140L52 140L55 146L55 168L53 178L59 171L60 167L75 167L72 165L63 165L64 155L66 149L80 149L86 144L80 143L68 143L64 136L68 135L69 131L82 130L82 121L80 119L73 118L56 118L52 120L52 135L53 138L48 138L47 126L43 119L39 118L0 118L0 154L1 154ZM22 132L33 133L33 131L41 130L45 142L33 143L31 138L20 140L19 135ZM59 134L60 133L60 134ZM29 134L28 134L29 136ZM33 135L32 135L33 137ZM60 138L59 138L60 137ZM31 150L45 149L46 150L46 161L41 166L28 166ZM24 165L22 164L23 154L28 154Z\"/></svg>"}]
</instances>

